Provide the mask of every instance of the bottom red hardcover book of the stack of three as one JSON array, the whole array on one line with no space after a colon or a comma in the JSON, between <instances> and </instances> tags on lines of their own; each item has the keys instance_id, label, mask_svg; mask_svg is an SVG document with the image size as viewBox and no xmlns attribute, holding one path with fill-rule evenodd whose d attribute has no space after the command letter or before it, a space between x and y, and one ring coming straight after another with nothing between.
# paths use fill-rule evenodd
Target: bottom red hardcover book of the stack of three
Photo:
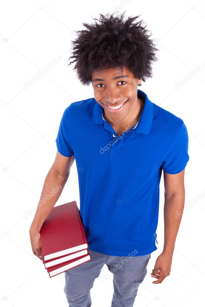
<instances>
[{"instance_id":1,"label":"bottom red hardcover book of the stack of three","mask_svg":"<svg viewBox=\"0 0 205 307\"><path fill-rule=\"evenodd\" d=\"M64 262L64 263L58 264L57 266L52 266L51 268L47 269L47 272L49 273L49 276L51 278L53 276L56 276L67 270L70 270L73 267L79 266L82 263L88 262L90 260L91 260L91 256L88 254L87 256L83 256L81 258L77 258L77 259L74 259L68 262Z\"/></svg>"}]
</instances>

